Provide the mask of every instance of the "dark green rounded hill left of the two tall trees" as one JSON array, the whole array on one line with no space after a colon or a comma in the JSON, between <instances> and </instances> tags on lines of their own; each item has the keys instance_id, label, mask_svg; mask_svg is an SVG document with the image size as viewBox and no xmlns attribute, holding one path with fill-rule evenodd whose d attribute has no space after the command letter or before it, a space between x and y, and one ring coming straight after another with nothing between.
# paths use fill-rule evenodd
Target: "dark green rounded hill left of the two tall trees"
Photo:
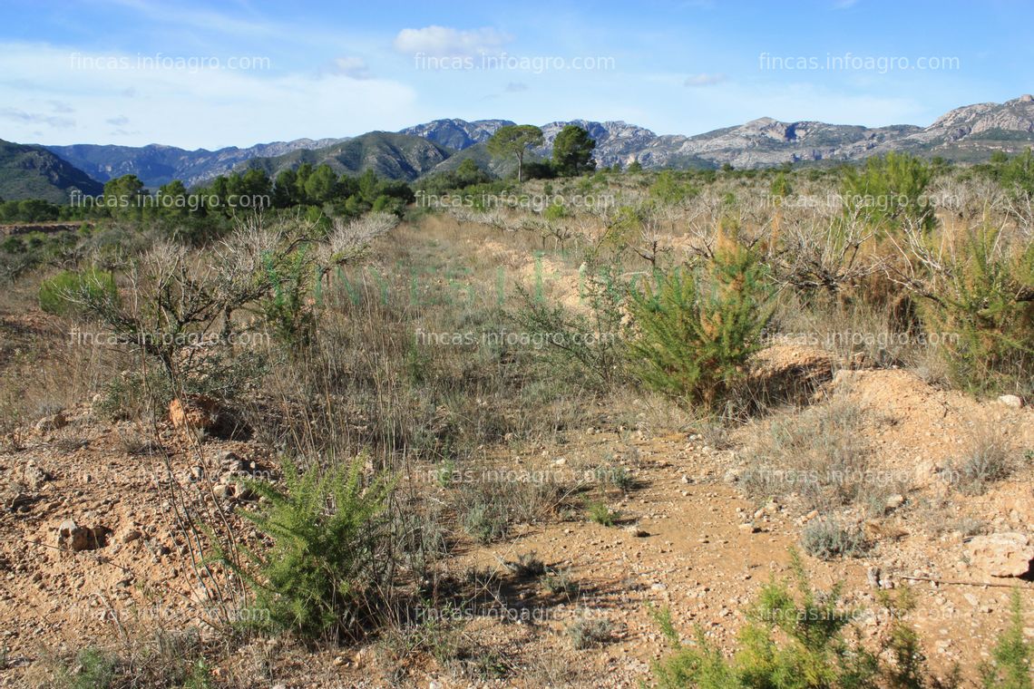
<instances>
[{"instance_id":1,"label":"dark green rounded hill left of the two tall trees","mask_svg":"<svg viewBox=\"0 0 1034 689\"><path fill-rule=\"evenodd\" d=\"M274 157L252 158L239 169L264 169L275 178L281 170L303 163L327 163L335 173L359 175L372 169L381 177L413 181L455 153L421 136L372 131L322 149L294 151Z\"/></svg>"}]
</instances>

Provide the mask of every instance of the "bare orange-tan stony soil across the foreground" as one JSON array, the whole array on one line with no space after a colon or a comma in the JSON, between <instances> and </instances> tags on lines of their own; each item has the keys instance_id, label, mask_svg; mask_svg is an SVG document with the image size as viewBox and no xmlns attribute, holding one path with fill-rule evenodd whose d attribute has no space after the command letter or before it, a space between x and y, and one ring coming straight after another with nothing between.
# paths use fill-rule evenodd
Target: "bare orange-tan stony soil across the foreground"
<instances>
[{"instance_id":1,"label":"bare orange-tan stony soil across the foreground","mask_svg":"<svg viewBox=\"0 0 1034 689\"><path fill-rule=\"evenodd\" d=\"M776 362L794 356L769 354ZM797 352L798 371L822 361L807 354ZM814 583L826 588L843 580L847 602L875 613L879 588L912 587L917 607L911 619L932 665L945 671L959 662L972 677L1005 624L1010 587L1034 602L1034 482L1027 466L985 494L969 496L949 487L946 468L979 425L994 425L1013 451L1034 447L1034 410L934 389L899 370L842 371L824 390L866 411L864 433L876 447L876 466L911 480L887 499L879 519L845 509L844 519L865 525L873 547L828 562L807 557ZM740 484L744 458L767 421L712 446L718 441L662 432L649 419L644 408L634 427L605 424L570 433L562 444L497 453L499 467L523 469L533 477L527 480L549 472L571 479L600 458L615 457L634 486L608 494L614 526L567 514L518 525L503 543L470 542L444 561L443 576L483 571L495 582L496 597L468 612L466 632L512 668L505 681L487 684L637 686L666 651L650 606L669 606L688 638L699 626L728 649L758 588L788 573L789 549L799 547L802 526L819 514L801 509L793 496L752 499ZM149 443L143 440L149 430L102 420L92 404L82 404L6 439L0 453L4 686L22 686L49 653L81 648L86 639L118 639L141 623L204 628L216 617L218 592L197 574L202 567L178 501L196 494L212 501L204 504L241 504L251 496L231 484L235 476L275 473L258 445L197 444L173 420L160 419L152 436L158 442ZM251 536L236 518L225 527L243 540ZM529 554L566 572L581 593L555 595L538 577L516 573L513 563ZM1034 636L1032 615L1034 604L1027 628ZM576 650L569 629L585 617L606 619L610 631L600 645ZM859 620L869 637L886 624L876 614ZM294 662L282 661L274 671L285 687L384 686L391 676L377 644L286 658ZM216 676L241 672L235 663L243 662L227 660ZM482 682L431 659L410 667L408 677L425 687Z\"/></svg>"}]
</instances>

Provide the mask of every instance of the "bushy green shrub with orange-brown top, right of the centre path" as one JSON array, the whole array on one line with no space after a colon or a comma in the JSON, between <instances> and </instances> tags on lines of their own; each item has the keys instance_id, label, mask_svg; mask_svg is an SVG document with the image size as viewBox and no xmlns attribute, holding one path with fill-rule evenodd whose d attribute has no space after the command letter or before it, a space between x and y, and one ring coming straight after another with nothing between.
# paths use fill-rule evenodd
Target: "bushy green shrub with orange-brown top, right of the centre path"
<instances>
[{"instance_id":1,"label":"bushy green shrub with orange-brown top, right of the centre path","mask_svg":"<svg viewBox=\"0 0 1034 689\"><path fill-rule=\"evenodd\" d=\"M771 315L765 274L753 251L723 240L705 271L675 269L632 289L643 384L708 409L730 398Z\"/></svg>"}]
</instances>

